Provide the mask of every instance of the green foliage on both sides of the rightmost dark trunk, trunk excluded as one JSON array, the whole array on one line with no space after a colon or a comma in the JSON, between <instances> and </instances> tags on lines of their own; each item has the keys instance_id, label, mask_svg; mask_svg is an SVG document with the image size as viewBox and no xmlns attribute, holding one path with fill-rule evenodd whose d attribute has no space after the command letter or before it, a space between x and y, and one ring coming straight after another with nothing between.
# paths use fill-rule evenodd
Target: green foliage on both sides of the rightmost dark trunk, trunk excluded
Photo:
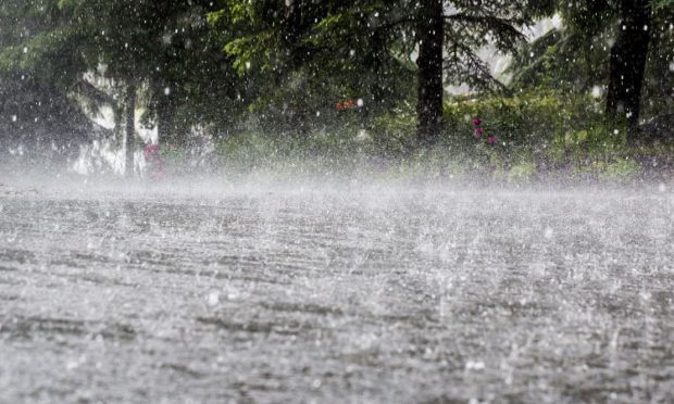
<instances>
[{"instance_id":1,"label":"green foliage on both sides of the rightmost dark trunk, trunk excluded","mask_svg":"<svg viewBox=\"0 0 674 404\"><path fill-rule=\"evenodd\" d=\"M538 9L538 14L559 13L563 27L517 49L509 73L511 88L563 89L575 94L595 91L602 97L609 81L609 61L620 28L623 2L615 0L551 1L553 7ZM534 2L536 3L536 2ZM665 114L674 108L671 97L674 71L670 68L674 49L674 7L671 0L656 0L650 35L641 116Z\"/></svg>"}]
</instances>

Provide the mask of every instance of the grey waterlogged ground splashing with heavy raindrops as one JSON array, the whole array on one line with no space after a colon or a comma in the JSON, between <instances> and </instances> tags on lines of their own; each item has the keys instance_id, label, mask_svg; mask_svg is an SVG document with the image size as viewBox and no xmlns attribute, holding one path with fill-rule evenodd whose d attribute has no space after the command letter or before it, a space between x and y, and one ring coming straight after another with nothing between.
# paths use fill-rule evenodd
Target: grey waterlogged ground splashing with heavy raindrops
<instances>
[{"instance_id":1,"label":"grey waterlogged ground splashing with heavy raindrops","mask_svg":"<svg viewBox=\"0 0 674 404\"><path fill-rule=\"evenodd\" d=\"M672 402L674 195L0 194L0 401Z\"/></svg>"}]
</instances>

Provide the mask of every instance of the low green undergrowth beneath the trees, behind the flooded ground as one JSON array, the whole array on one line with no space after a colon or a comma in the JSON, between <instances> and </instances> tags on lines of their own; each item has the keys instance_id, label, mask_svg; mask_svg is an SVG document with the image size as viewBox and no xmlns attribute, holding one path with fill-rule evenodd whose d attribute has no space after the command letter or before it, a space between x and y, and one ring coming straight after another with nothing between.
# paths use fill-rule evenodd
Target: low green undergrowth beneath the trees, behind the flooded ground
<instances>
[{"instance_id":1,"label":"low green undergrowth beneath the trees, behind the flooded ground","mask_svg":"<svg viewBox=\"0 0 674 404\"><path fill-rule=\"evenodd\" d=\"M369 121L334 121L336 124L301 136L240 131L223 138L219 150L229 167L285 162L282 165L288 168L288 164L302 166L307 160L323 161L321 169L330 164L344 169L341 165L353 159L367 162L385 157L395 167L389 169L402 176L423 173L429 178L490 178L517 184L547 172L566 171L608 179L622 168L628 172L624 160L632 149L626 144L626 123L607 122L600 106L589 96L570 97L551 90L522 91L512 97L462 97L446 104L441 141L429 150L416 150L414 109L401 103ZM497 144L474 137L472 118L476 116L483 119L484 137L496 135Z\"/></svg>"}]
</instances>

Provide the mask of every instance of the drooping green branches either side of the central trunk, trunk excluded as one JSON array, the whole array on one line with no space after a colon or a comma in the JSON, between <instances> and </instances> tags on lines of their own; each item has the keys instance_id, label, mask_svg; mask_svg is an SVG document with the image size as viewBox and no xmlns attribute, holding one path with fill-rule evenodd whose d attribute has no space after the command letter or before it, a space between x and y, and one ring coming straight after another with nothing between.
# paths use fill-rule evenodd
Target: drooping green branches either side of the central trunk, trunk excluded
<instances>
[{"instance_id":1,"label":"drooping green branches either side of the central trunk, trunk excluded","mask_svg":"<svg viewBox=\"0 0 674 404\"><path fill-rule=\"evenodd\" d=\"M522 8L526 1L449 3L444 38L448 81L500 88L476 52L486 45L512 50L524 39L515 27L531 22L533 14ZM229 0L208 21L214 40L250 84L242 102L251 115L276 117L280 131L300 119L299 131L309 131L321 126L305 123L309 117L344 99L363 100L367 117L413 102L419 10L410 0Z\"/></svg>"}]
</instances>

